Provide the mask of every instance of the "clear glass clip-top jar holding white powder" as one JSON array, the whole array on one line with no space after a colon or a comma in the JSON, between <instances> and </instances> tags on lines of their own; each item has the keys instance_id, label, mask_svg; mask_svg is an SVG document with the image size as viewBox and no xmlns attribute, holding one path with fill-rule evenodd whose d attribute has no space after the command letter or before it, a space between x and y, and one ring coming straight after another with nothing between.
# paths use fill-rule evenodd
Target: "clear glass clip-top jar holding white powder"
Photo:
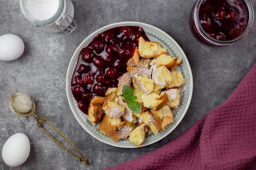
<instances>
[{"instance_id":1,"label":"clear glass clip-top jar holding white powder","mask_svg":"<svg viewBox=\"0 0 256 170\"><path fill-rule=\"evenodd\" d=\"M20 0L20 8L27 20L43 31L70 34L76 28L71 0Z\"/></svg>"}]
</instances>

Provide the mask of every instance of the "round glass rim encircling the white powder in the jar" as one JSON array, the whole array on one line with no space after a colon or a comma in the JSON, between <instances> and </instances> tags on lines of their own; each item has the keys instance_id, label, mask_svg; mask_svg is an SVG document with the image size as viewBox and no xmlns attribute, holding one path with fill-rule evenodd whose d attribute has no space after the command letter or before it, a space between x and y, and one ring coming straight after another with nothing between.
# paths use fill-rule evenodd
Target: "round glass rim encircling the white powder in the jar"
<instances>
[{"instance_id":1,"label":"round glass rim encircling the white powder in the jar","mask_svg":"<svg viewBox=\"0 0 256 170\"><path fill-rule=\"evenodd\" d=\"M61 13L64 9L64 0L58 0L58 9L56 11L56 13L49 19L47 20L35 20L31 14L29 13L29 11L26 8L26 3L27 0L20 0L20 9L23 13L23 15L25 15L25 17L27 18L27 20L29 20L29 22L31 22L32 24L35 24L36 26L46 26L49 24L52 24L53 22L55 22L56 20L58 20L58 18L61 16Z\"/></svg>"}]
</instances>

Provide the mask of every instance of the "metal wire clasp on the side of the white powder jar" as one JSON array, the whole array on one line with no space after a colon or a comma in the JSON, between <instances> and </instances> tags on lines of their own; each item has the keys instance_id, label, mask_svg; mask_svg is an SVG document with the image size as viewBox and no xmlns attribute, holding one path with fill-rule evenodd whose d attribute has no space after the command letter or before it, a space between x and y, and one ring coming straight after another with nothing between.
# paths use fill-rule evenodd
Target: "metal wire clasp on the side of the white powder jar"
<instances>
[{"instance_id":1,"label":"metal wire clasp on the side of the white powder jar","mask_svg":"<svg viewBox=\"0 0 256 170\"><path fill-rule=\"evenodd\" d=\"M75 29L76 29L76 22L74 21L74 19L70 16L70 15L68 15L68 14L65 14L65 15L63 15L63 14L61 14L62 15L62 19L61 20L59 20L58 22L55 22L56 23L56 26L57 26L57 28L61 31L61 32L63 32L63 33L66 33L67 35L70 35ZM72 22L70 22L69 20L68 20L68 18L70 18L71 20L72 20ZM63 22L64 20L67 20L67 23L69 24L68 26L63 26L63 25L61 25L61 22ZM71 23L73 23L74 25L72 25ZM64 28L64 30L62 30L61 28ZM66 31L65 31L66 30Z\"/></svg>"}]
</instances>

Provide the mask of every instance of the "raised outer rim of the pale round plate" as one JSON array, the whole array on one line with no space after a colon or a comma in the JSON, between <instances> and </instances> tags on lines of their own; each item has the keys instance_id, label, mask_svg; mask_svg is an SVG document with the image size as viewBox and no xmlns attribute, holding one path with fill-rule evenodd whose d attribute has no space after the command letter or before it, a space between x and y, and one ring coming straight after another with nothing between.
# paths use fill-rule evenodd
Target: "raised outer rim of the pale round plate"
<instances>
[{"instance_id":1,"label":"raised outer rim of the pale round plate","mask_svg":"<svg viewBox=\"0 0 256 170\"><path fill-rule=\"evenodd\" d=\"M78 56L77 53L80 53L81 49L83 47L85 47L87 44L85 44L85 42L88 42L90 43L92 41L92 39L98 35L99 33L103 32L103 31L106 31L107 29L110 29L110 28L114 28L114 27L118 27L118 26L141 26L143 29L147 29L147 30L156 30L157 31L157 34L158 35L161 35L161 36L164 36L165 38L168 38L169 40L171 40L170 42L172 42L171 44L175 46L176 49L179 50L179 52L181 53L180 57L182 57L182 60L183 62L185 62L185 66L186 66L186 73L189 75L188 77L190 77L189 79L189 82L186 80L186 84L187 86L189 86L189 91L187 92L188 95L187 95L187 98L186 98L186 106L184 106L183 108L183 114L179 116L179 119L176 120L172 126L172 130L170 132L168 132L167 134L164 134L162 135L161 137L159 137L159 139L157 139L156 141L151 141L152 139L150 139L149 141L147 141L146 143L144 142L143 144L141 144L141 146L139 147L143 147L143 146L148 146L150 144L154 144L160 140L162 140L164 137L166 137L167 135L169 135L179 124L180 122L182 121L183 117L186 115L187 113L187 110L190 106L190 103L191 103L191 99L192 99L192 94L193 94L193 75L192 75L192 71L191 71L191 67L190 67L190 64L189 64L189 61L184 53L184 51L182 50L182 48L180 47L180 45L170 36L168 35L166 32L162 31L161 29L155 27L155 26L152 26L150 24L146 24L146 23L143 23L143 22L133 22L133 21L126 21L126 22L116 22L116 23L112 23L112 24L108 24L106 26L103 26L99 29L97 29L96 31L94 31L93 33L91 33L90 35L88 35L80 44L79 46L76 48L76 50L74 51L73 55L72 55L72 58L70 60L70 63L68 65L68 68L67 68L67 75L66 75L66 94L67 94L67 99L68 99L68 103L69 103L69 106L70 106L70 109L74 115L74 117L76 118L76 120L78 121L78 123L80 124L80 126L83 127L83 129L88 132L92 137L94 137L95 139L105 143L105 144L109 144L111 146L116 146L116 147L119 147L119 148L138 148L138 146L134 146L133 144L129 143L128 145L124 145L122 143L118 143L118 142L108 142L106 141L106 137L101 137L101 136L95 136L93 132L91 132L85 125L84 125L84 121L81 119L81 117L79 117L78 114L75 114L76 113L76 110L75 110L75 106L72 102L72 91L71 91L71 83L70 83L70 79L69 79L69 74L72 74L73 75L73 65L72 63L75 62L77 63L77 60L78 60ZM155 32L155 31L154 31ZM174 43L174 44L173 44ZM170 49L168 49L170 50ZM171 51L171 50L170 50ZM71 77L72 77L71 75ZM153 138L154 139L154 138ZM155 139L154 139L155 140Z\"/></svg>"}]
</instances>

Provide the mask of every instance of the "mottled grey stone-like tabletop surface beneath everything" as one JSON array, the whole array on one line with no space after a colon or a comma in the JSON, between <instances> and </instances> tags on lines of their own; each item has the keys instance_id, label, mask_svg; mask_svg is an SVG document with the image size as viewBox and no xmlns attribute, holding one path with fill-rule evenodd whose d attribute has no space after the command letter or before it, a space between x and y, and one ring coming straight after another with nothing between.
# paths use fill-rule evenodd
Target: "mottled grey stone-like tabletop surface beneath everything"
<instances>
[{"instance_id":1,"label":"mottled grey stone-like tabletop surface beneath everything","mask_svg":"<svg viewBox=\"0 0 256 170\"><path fill-rule=\"evenodd\" d=\"M0 61L0 148L18 132L25 133L31 142L31 152L24 164L11 168L0 157L1 170L100 170L142 156L175 139L221 105L256 60L255 24L241 42L231 46L214 48L195 40L188 22L195 0L72 2L78 26L74 33L65 35L42 32L29 24L20 11L19 0L0 0L0 35L13 33L25 43L25 52L18 60ZM171 35L184 50L193 73L193 97L184 119L170 135L142 148L116 148L94 139L76 121L66 97L67 66L77 46L102 26L122 21L144 22ZM63 132L90 164L82 165L58 146L36 126L34 117L11 113L8 99L17 92L30 94L36 102L36 115L46 117Z\"/></svg>"}]
</instances>

